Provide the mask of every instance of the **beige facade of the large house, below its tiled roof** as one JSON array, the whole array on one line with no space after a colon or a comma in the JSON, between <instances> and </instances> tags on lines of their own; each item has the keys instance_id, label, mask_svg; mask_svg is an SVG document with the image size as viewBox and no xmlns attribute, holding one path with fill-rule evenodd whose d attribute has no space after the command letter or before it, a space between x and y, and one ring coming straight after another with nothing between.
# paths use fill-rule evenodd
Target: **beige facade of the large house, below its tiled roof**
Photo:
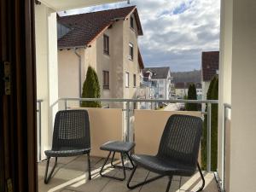
<instances>
[{"instance_id":1,"label":"beige facade of the large house, below its tiled roof","mask_svg":"<svg viewBox=\"0 0 256 192\"><path fill-rule=\"evenodd\" d=\"M137 98L142 68L138 59L137 38L142 33L137 29L135 10L135 7L131 7L130 13L124 19L115 20L110 26L105 27L90 44L84 44L81 48L59 48L60 97L81 97L87 69L90 66L98 75L102 98ZM131 20L134 21L133 27ZM106 37L107 52L104 50ZM104 79L103 73L106 72L108 77L105 76ZM116 103L112 107L118 106L121 107Z\"/></svg>"}]
</instances>

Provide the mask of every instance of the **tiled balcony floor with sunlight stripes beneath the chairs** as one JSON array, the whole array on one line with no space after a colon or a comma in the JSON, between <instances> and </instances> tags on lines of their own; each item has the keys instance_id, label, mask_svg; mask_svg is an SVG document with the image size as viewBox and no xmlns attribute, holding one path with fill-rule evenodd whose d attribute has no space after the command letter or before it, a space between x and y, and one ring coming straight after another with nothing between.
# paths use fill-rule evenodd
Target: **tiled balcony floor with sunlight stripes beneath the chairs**
<instances>
[{"instance_id":1,"label":"tiled balcony floor with sunlight stripes beneath the chairs","mask_svg":"<svg viewBox=\"0 0 256 192\"><path fill-rule=\"evenodd\" d=\"M54 159L52 159L52 162ZM58 165L48 184L44 184L44 169L46 161L38 163L38 189L39 192L161 192L165 191L168 182L167 177L160 178L153 183L148 183L140 188L129 190L126 188L126 181L116 181L110 178L101 177L99 175L100 168L103 163L102 158L91 157L91 174L92 180L88 181L88 172L86 165L86 156L59 158ZM53 163L50 164L49 168ZM84 174L85 172L85 174ZM114 176L122 176L121 170L110 169L108 174ZM130 176L131 171L126 171L126 180ZM206 187L203 191L218 192L218 188L212 173L205 173ZM147 177L153 177L153 172L148 172L142 168L137 168L137 172L133 178L133 183L141 182ZM173 177L170 192L178 191L195 191L199 189L201 179L199 173L193 177L182 177L181 189L179 190L179 177Z\"/></svg>"}]
</instances>

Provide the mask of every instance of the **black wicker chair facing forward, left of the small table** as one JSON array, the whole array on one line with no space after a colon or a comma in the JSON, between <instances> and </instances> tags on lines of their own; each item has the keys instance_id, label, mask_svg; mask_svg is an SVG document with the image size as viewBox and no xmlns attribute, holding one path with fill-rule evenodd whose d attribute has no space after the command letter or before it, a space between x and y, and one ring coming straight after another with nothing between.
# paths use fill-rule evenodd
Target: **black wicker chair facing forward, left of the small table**
<instances>
[{"instance_id":1,"label":"black wicker chair facing forward, left of the small table","mask_svg":"<svg viewBox=\"0 0 256 192\"><path fill-rule=\"evenodd\" d=\"M44 175L44 183L49 179L55 170L58 157L77 156L87 154L88 169L90 177L90 122L86 110L59 111L55 116L52 148L44 151L47 156L47 165ZM49 159L55 157L55 165L49 172Z\"/></svg>"}]
</instances>

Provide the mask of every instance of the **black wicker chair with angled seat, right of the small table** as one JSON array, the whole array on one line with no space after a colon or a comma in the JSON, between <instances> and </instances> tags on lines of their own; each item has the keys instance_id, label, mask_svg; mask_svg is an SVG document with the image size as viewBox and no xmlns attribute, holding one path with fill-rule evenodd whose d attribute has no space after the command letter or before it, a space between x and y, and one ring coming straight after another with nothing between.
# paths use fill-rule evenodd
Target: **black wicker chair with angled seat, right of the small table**
<instances>
[{"instance_id":1,"label":"black wicker chair with angled seat, right of the small table","mask_svg":"<svg viewBox=\"0 0 256 192\"><path fill-rule=\"evenodd\" d=\"M205 179L197 162L199 147L201 143L202 120L201 118L174 114L167 123L160 140L158 154L155 156L146 154L132 154L136 166L127 181L129 189L135 189L145 183L153 182L160 177L169 177L166 192L172 183L172 176L192 176L196 166L201 174L202 185L197 191L205 186ZM131 186L131 178L136 172L137 166L142 166L150 172L158 173L159 176L150 178L142 183Z\"/></svg>"}]
</instances>

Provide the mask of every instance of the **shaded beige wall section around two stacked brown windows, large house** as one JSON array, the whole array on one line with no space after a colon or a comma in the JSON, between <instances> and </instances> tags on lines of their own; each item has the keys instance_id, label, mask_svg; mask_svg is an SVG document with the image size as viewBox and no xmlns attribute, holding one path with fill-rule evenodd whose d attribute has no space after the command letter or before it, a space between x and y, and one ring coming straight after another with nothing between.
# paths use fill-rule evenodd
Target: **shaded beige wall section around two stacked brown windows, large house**
<instances>
[{"instance_id":1,"label":"shaded beige wall section around two stacked brown windows, large house","mask_svg":"<svg viewBox=\"0 0 256 192\"><path fill-rule=\"evenodd\" d=\"M103 35L109 37L109 55L103 52ZM113 26L103 32L96 39L96 72L101 84L103 98L122 98L123 97L123 22L119 20ZM109 72L109 90L104 90L103 70Z\"/></svg>"}]
</instances>

